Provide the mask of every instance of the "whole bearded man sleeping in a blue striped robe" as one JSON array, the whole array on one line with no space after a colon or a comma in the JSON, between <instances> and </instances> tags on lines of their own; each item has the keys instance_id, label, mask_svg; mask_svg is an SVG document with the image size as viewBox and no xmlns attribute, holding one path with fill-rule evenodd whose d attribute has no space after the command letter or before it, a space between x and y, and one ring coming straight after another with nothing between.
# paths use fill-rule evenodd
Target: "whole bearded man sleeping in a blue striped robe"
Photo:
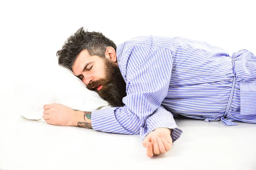
<instances>
[{"instance_id":1,"label":"whole bearded man sleeping in a blue striped robe","mask_svg":"<svg viewBox=\"0 0 256 170\"><path fill-rule=\"evenodd\" d=\"M169 151L180 135L173 118L256 123L256 56L182 37L143 36L116 45L80 28L57 52L59 65L110 103L92 113L44 105L48 124L139 134L147 155Z\"/></svg>"}]
</instances>

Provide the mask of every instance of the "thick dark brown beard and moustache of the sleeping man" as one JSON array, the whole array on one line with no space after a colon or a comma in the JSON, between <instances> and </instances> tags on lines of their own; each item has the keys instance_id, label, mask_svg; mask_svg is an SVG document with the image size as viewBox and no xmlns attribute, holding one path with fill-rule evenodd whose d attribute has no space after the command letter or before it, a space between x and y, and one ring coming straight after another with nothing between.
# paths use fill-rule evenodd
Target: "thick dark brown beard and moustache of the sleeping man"
<instances>
[{"instance_id":1,"label":"thick dark brown beard and moustache of the sleeping man","mask_svg":"<svg viewBox=\"0 0 256 170\"><path fill-rule=\"evenodd\" d=\"M112 107L122 107L125 104L122 99L126 96L126 84L120 69L113 62L104 59L105 78L91 82L87 85L89 90L96 91L102 99L107 101ZM103 85L101 90L97 90L98 85Z\"/></svg>"}]
</instances>

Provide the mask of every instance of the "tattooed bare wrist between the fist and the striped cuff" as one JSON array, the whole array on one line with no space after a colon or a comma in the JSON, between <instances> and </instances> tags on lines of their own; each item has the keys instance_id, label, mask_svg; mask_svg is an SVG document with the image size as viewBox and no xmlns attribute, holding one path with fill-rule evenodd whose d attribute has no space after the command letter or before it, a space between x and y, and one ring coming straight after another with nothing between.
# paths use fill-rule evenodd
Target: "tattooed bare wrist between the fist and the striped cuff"
<instances>
[{"instance_id":1,"label":"tattooed bare wrist between the fist and the striped cuff","mask_svg":"<svg viewBox=\"0 0 256 170\"><path fill-rule=\"evenodd\" d=\"M92 129L91 112L76 111L73 119L73 126Z\"/></svg>"}]
</instances>

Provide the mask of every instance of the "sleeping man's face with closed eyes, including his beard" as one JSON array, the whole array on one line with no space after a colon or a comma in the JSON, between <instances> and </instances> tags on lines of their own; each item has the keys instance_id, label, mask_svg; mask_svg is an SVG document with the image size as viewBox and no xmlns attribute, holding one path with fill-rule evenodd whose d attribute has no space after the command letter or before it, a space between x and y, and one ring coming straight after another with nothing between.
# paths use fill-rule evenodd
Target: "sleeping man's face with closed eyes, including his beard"
<instances>
[{"instance_id":1,"label":"sleeping man's face with closed eyes, including his beard","mask_svg":"<svg viewBox=\"0 0 256 170\"><path fill-rule=\"evenodd\" d=\"M113 62L110 56L106 58L90 56L87 50L81 51L72 70L89 90L96 91L110 105L113 107L124 105L122 98L126 96L126 84L117 62Z\"/></svg>"}]
</instances>

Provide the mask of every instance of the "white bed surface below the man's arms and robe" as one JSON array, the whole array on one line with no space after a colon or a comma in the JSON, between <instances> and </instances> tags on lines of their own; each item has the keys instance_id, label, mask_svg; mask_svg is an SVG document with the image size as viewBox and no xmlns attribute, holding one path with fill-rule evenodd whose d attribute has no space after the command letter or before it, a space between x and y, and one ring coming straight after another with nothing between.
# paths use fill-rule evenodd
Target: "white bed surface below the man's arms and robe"
<instances>
[{"instance_id":1,"label":"white bed surface below the man's arms and robe","mask_svg":"<svg viewBox=\"0 0 256 170\"><path fill-rule=\"evenodd\" d=\"M176 119L183 135L171 151L150 159L139 136L102 133L27 120L2 121L0 168L8 170L175 169L255 170L256 126ZM12 133L10 133L12 132ZM40 133L38 133L40 132ZM123 167L124 166L124 167ZM137 169L137 168L136 168Z\"/></svg>"}]
</instances>

